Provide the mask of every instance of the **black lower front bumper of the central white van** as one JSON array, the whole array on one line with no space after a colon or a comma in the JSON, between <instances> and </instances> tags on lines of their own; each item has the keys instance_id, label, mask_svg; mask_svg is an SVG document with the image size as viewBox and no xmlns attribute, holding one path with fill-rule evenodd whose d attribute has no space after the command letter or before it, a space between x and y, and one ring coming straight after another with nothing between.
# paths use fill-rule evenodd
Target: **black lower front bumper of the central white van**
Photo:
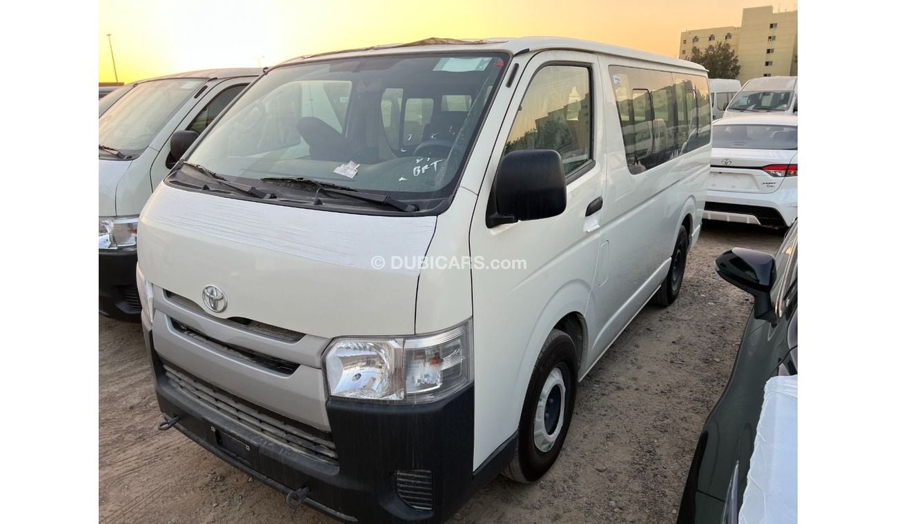
<instances>
[{"instance_id":1,"label":"black lower front bumper of the central white van","mask_svg":"<svg viewBox=\"0 0 897 524\"><path fill-rule=\"evenodd\" d=\"M454 396L420 406L373 405L327 400L338 463L325 463L293 451L236 419L189 398L173 385L152 348L156 395L166 419L215 456L288 494L309 488L306 502L336 519L362 522L441 522L451 517L476 489L501 472L514 449L512 440L472 472L473 384ZM236 446L236 448L235 448ZM403 472L429 472L430 509L420 503L427 488L402 484ZM399 475L396 475L399 472ZM406 501L411 498L416 509Z\"/></svg>"}]
</instances>

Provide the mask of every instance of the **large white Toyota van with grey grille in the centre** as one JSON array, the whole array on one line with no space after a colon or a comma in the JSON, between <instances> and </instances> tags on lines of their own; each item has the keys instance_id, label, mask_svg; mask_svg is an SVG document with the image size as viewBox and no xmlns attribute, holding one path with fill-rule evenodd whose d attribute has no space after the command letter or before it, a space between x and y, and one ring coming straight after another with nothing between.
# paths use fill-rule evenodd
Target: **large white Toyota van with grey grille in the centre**
<instances>
[{"instance_id":1,"label":"large white Toyota van with grey grille in the centre","mask_svg":"<svg viewBox=\"0 0 897 524\"><path fill-rule=\"evenodd\" d=\"M521 38L274 66L141 214L160 429L342 520L535 481L579 380L678 295L709 172L691 62Z\"/></svg>"}]
</instances>

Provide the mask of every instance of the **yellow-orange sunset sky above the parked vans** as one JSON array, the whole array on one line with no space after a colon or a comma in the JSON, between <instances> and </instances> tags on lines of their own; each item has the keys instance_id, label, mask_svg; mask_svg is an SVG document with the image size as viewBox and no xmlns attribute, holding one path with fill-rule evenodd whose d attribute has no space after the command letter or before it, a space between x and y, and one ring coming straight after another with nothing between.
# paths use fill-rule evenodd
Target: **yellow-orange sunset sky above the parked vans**
<instances>
[{"instance_id":1,"label":"yellow-orange sunset sky above the parked vans","mask_svg":"<svg viewBox=\"0 0 897 524\"><path fill-rule=\"evenodd\" d=\"M100 82L212 67L273 65L294 56L428 37L562 36L676 56L679 33L741 23L771 0L100 0Z\"/></svg>"}]
</instances>

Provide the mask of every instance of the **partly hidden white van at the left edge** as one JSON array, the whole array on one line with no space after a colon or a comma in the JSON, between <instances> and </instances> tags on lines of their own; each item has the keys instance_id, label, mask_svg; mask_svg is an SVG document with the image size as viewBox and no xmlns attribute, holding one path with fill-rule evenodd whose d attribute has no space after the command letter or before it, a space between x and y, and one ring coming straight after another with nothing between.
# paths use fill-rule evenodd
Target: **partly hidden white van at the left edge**
<instances>
[{"instance_id":1,"label":"partly hidden white van at the left edge","mask_svg":"<svg viewBox=\"0 0 897 524\"><path fill-rule=\"evenodd\" d=\"M202 133L261 72L172 74L127 84L100 99L100 314L140 321L137 216L179 158L171 153L171 134Z\"/></svg>"}]
</instances>

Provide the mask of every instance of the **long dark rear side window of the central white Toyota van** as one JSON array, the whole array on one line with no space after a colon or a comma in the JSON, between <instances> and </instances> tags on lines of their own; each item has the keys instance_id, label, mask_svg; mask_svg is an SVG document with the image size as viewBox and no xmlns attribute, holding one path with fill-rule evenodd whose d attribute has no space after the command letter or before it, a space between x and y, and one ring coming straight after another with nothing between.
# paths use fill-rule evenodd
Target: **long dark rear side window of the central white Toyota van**
<instances>
[{"instance_id":1,"label":"long dark rear side window of the central white Toyota van","mask_svg":"<svg viewBox=\"0 0 897 524\"><path fill-rule=\"evenodd\" d=\"M710 143L706 78L618 65L608 69L631 174Z\"/></svg>"}]
</instances>

